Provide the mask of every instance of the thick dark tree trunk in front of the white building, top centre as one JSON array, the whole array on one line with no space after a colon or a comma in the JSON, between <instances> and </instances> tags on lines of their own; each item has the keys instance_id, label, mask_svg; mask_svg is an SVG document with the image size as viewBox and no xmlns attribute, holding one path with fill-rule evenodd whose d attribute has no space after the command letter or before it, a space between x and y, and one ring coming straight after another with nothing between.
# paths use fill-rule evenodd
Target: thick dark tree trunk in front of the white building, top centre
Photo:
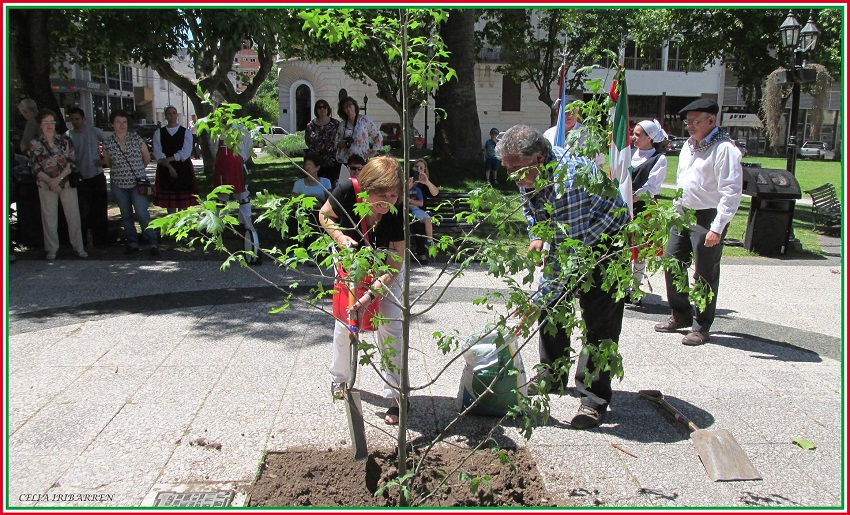
<instances>
[{"instance_id":1,"label":"thick dark tree trunk in front of the white building, top centre","mask_svg":"<svg viewBox=\"0 0 850 515\"><path fill-rule=\"evenodd\" d=\"M482 139L475 100L475 12L452 11L441 27L440 36L451 53L449 66L457 80L443 84L437 95L437 109L451 116L440 119L434 128L434 156L451 160L481 161Z\"/></svg>"}]
</instances>

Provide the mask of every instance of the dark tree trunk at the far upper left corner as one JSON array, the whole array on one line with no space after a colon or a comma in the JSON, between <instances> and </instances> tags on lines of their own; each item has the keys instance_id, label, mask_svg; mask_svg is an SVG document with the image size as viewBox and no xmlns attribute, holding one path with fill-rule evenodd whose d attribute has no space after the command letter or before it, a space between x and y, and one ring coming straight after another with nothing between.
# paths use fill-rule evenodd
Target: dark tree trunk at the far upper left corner
<instances>
[{"instance_id":1,"label":"dark tree trunk at the far upper left corner","mask_svg":"<svg viewBox=\"0 0 850 515\"><path fill-rule=\"evenodd\" d=\"M56 132L63 133L68 127L50 86L50 13L48 9L12 9L9 22L16 35L13 51L19 98L31 98L39 109L56 113Z\"/></svg>"}]
</instances>

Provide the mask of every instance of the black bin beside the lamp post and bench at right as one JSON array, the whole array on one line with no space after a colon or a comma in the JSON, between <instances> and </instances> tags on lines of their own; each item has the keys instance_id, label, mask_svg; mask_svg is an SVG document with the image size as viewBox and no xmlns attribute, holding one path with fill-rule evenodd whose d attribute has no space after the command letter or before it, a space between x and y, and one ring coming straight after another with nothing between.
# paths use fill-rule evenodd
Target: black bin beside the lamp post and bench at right
<instances>
[{"instance_id":1,"label":"black bin beside the lamp post and bench at right","mask_svg":"<svg viewBox=\"0 0 850 515\"><path fill-rule=\"evenodd\" d=\"M785 254L794 221L800 183L786 170L744 168L744 195L750 195L750 214L744 248L763 256Z\"/></svg>"}]
</instances>

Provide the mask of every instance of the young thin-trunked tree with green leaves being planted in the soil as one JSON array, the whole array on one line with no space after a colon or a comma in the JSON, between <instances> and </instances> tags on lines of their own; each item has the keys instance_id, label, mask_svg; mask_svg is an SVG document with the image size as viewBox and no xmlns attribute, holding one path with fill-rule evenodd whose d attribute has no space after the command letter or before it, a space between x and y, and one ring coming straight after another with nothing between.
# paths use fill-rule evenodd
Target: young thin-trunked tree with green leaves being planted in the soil
<instances>
[{"instance_id":1,"label":"young thin-trunked tree with green leaves being planted in the soil","mask_svg":"<svg viewBox=\"0 0 850 515\"><path fill-rule=\"evenodd\" d=\"M429 16L437 21L442 21L446 13L436 10L399 10L397 17L392 20L382 20L384 27L379 30L374 26L364 26L357 23L352 23L352 19L346 16L346 13L340 11L307 11L302 13L306 21L306 26L314 31L315 34L321 37L328 38L329 42L337 43L339 41L349 41L351 45L357 46L362 43L364 38L374 37L374 34L380 33L389 44L385 47L387 53L397 53L399 59L397 66L402 68L398 74L402 77L402 84L399 86L401 98L409 98L407 88L422 89L425 92L430 92L436 88L440 81L445 77L452 76L452 70L448 69L445 63L441 60L431 60L427 65L411 62L409 59L408 44L416 41L415 38L410 38L407 34L408 27L417 26L417 16ZM449 14L451 15L451 14ZM377 31L377 32L376 32ZM394 34L394 36L392 36ZM422 41L424 44L425 41ZM444 55L442 52L442 43L439 37L432 36L428 45L435 47L436 55ZM604 126L603 120L607 110L611 107L612 102L608 99L602 88L601 81L595 81L591 86L591 91L595 95L595 100L582 103L582 112L584 119L587 121L588 130L594 131L595 136L587 139L588 147L582 149L582 152L595 156L604 148L605 142L608 141L608 132ZM219 106L216 112L223 109ZM214 113L216 113L214 112ZM405 115L407 110L402 111L403 120L406 122ZM219 119L217 116L210 117L212 121ZM407 124L403 124L407 127ZM214 129L214 132L223 130L228 131L226 127ZM409 134L405 134L405 141L409 141ZM405 148L408 148L405 145ZM405 156L405 163L408 162ZM607 173L597 170L591 161L587 161L587 168L580 170L576 181L578 184L590 189L594 194L598 195L618 195L616 184L609 178ZM551 168L551 165L550 165ZM400 172L404 180L408 176L407 166L402 168ZM541 174L541 177L543 175ZM541 183L539 187L549 188L558 187L558 174L550 174L552 183ZM406 181L405 181L406 182ZM398 206L398 209L403 210L405 216L409 216L409 200L407 196L402 196L403 204ZM166 218L155 221L154 224L163 228L170 234L177 235L178 240L187 237L195 237L207 245L215 245L217 248L224 249L222 234L228 228L233 228L236 225L235 218L231 215L234 206L228 206L221 209L221 206L215 202L215 192L205 202L201 202L199 206L194 206L183 212L170 215ZM490 188L485 188L480 191L474 191L470 198L471 209L464 213L464 219L475 224L474 231L484 243L479 245L471 245L467 236L460 238L452 238L443 235L440 238L437 246L432 247L432 255L436 254L437 248L443 252L452 255L451 263L447 264L439 273L438 279L434 284L429 285L429 289L448 288L454 277L463 272L469 267L484 266L487 272L495 278L498 278L507 289L507 293L502 291L488 292L476 299L474 302L479 306L479 309L488 309L493 312L498 320L497 326L492 331L499 331L501 335L508 335L513 332L521 335L522 343L519 344L519 349L527 345L532 338L537 335L538 326L532 324L534 317L540 314L539 307L529 304L530 285L534 282L536 260L540 258L539 254L518 251L517 248L509 243L510 237L515 236L515 230L512 224L508 223L511 218L517 217L520 211L522 197L519 193L513 196L503 196L494 192ZM307 261L319 261L322 266L330 266L337 260L341 261L345 270L348 270L350 275L356 277L364 277L367 275L377 276L379 273L387 271L383 263L383 259L378 259L386 254L386 250L375 250L366 245L362 248L348 247L338 249L335 256L332 256L328 250L333 246L330 237L321 230L316 230L312 227L308 216L302 216L305 210L314 207L315 199L308 200L303 196L295 198L282 198L274 195L263 193L258 199L257 207L261 210L259 220L267 220L269 224L280 230L286 236L292 236L297 242L296 245L281 248L275 246L271 249L263 249L266 256L272 258L280 266L287 267L293 273L302 274L307 281L316 279L315 273L310 270L315 268L299 267L299 264ZM358 211L357 216L365 216L369 207L366 203L358 203L362 211ZM288 232L288 219L293 213L298 213L299 220L297 234ZM649 215L646 219L641 219L639 222L630 224L627 231L621 231L616 235L608 235L606 238L606 250L600 252L601 247L596 246L590 248L582 245L578 241L570 241L558 245L553 252L558 252L561 256L561 262L570 263L571 266L564 266L560 274L557 275L557 280L561 281L571 293L576 293L585 287L591 272L597 267L600 261L607 263L605 270L605 283L610 285L616 295L622 297L627 288L635 287L634 279L629 265L629 248L630 235L636 234L640 238L639 241L645 242L641 245L641 255L656 257L657 248L663 242L668 234L669 228L673 225L681 225L688 223L688 220L683 220L672 208L664 208L661 206L651 206L648 209ZM355 224L356 226L356 224ZM563 231L563 227L552 226L547 223L535 225L533 228L534 234L546 239L551 239L555 231ZM236 232L234 230L234 232ZM312 243L307 243L313 237L318 236ZM409 244L410 230L409 226L405 230L405 243ZM226 264L243 263L240 259L240 253L237 251L231 253L227 258ZM399 495L399 504L416 504L422 499L414 499L411 497L409 482L412 477L421 472L424 466L424 457L415 462L412 469L407 466L407 403L405 402L413 390L413 388L422 388L427 385L412 386L409 382L408 375L408 349L409 349L409 331L411 320L421 314L427 313L433 303L439 302L440 295L437 295L437 300L424 301L421 296L413 296L410 286L409 276L409 254L399 256L405 263L405 273L401 278L402 298L398 300L384 298L383 301L398 302L401 308L401 323L404 327L403 342L401 346L401 364L398 372L400 373L400 419L397 433L397 452L398 452L398 476L388 484L381 485L379 491L389 489L397 489ZM657 270L663 265L663 260L657 259L649 263L650 270ZM251 269L257 273L256 269ZM394 271L398 272L398 270ZM549 270L555 273L554 270ZM446 279L443 281L442 279ZM355 278L355 281L357 279ZM438 283L444 284L437 286ZM290 302L303 301L314 309L324 311L319 299L330 294L330 291L322 281L314 283L315 287L311 291L311 295L307 299L297 298L291 291L282 290L284 300L281 309L285 309ZM704 295L703 295L704 297ZM694 295L694 300L700 302L700 294ZM328 313L330 314L330 313ZM584 333L584 325L580 317L574 313L574 308L571 303L560 301L551 307L550 313L542 322L557 322L567 324L569 329L575 329ZM380 320L378 321L380 323ZM545 324L544 324L545 325ZM509 329L510 326L510 329ZM458 338L458 331L435 332L433 335L433 343L435 347L445 355L452 356L452 361L460 359L461 342ZM381 363L389 361L389 357L380 345L374 345L366 340L359 340L357 347L361 352L361 364L368 364L372 367L378 366ZM617 352L617 342L603 341L598 346L585 345L585 352L589 352L596 363L615 377L622 377L622 363ZM572 361L576 355L571 356L567 360L559 360L552 367L536 367L539 370L547 369L554 376L569 373ZM501 374L510 374L507 370L507 365L500 371ZM438 380L448 370L448 365L442 370L439 370L431 381ZM495 382L495 379L494 379ZM526 438L531 436L532 431L538 425L545 423L548 418L548 393L549 383L546 380L539 382L540 395L534 398L522 397L518 399L518 404L511 409L507 415L497 421L496 427L504 423L510 418L520 419L521 431ZM492 386L492 383L491 383ZM517 388L517 392L521 388ZM479 398L480 400L480 398ZM476 403L479 402L476 400ZM440 442L445 434L457 424L457 422L472 409L470 406L464 412L452 420L443 431L435 436L427 445L427 450ZM477 446L471 449L470 452L476 452L478 449L487 445L489 439L482 440ZM446 480L454 480L454 475L459 473L459 470L449 471L446 475ZM470 479L471 484L479 484L474 478Z\"/></svg>"}]
</instances>

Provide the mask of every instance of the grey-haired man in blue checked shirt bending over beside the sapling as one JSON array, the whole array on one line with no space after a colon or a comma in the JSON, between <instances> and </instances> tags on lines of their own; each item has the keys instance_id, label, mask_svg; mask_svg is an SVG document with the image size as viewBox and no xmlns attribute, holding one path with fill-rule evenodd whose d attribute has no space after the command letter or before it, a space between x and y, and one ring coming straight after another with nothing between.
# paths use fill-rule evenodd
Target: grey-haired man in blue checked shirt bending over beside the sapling
<instances>
[{"instance_id":1,"label":"grey-haired man in blue checked shirt bending over beside the sapling","mask_svg":"<svg viewBox=\"0 0 850 515\"><path fill-rule=\"evenodd\" d=\"M609 198L575 186L577 167L589 167L590 173L601 172L592 161L567 153L560 147L553 148L543 134L533 127L515 125L508 129L496 145L496 155L502 160L508 174L519 172L516 184L523 193L523 210L529 221L529 252L540 253L544 249L544 241L531 230L534 226L549 224L553 230L553 236L545 242L551 249L549 262L540 278L539 288L531 299L543 305L543 318L539 322L540 362L552 365L559 358L569 357L570 334L560 324L556 326L554 334L544 331L542 320L556 304L569 305L574 297L574 288L567 288L558 279L561 275L561 264L556 261L558 246L578 240L593 250L601 250L602 255L610 253L605 242L628 223L628 209L619 194ZM547 166L551 162L555 162L556 166ZM541 174L545 186L541 186L538 181ZM622 251L627 250L624 248ZM591 344L606 339L619 341L623 325L624 300L614 300L615 292L603 288L604 267L604 260L596 264L590 278L590 289L582 291L579 296L586 339ZM611 375L607 372L597 373L590 354L582 353L576 367L576 390L581 403L571 426L575 429L597 427L611 401ZM584 384L588 373L592 375L590 387ZM565 390L565 387L563 382L555 382L553 390Z\"/></svg>"}]
</instances>

